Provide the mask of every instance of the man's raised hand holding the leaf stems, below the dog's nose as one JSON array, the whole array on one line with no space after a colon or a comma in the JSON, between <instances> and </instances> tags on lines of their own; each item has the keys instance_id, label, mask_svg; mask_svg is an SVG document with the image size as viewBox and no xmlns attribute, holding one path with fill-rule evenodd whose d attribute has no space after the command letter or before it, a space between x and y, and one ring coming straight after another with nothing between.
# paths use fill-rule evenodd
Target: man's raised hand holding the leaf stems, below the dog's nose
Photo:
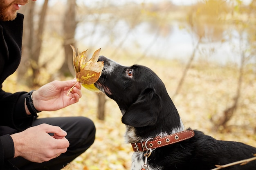
<instances>
[{"instance_id":1,"label":"man's raised hand holding the leaf stems, below the dog's nose","mask_svg":"<svg viewBox=\"0 0 256 170\"><path fill-rule=\"evenodd\" d=\"M75 83L72 92L67 96L67 92ZM54 111L64 108L78 102L80 97L82 97L81 84L76 82L76 79L50 82L32 94L34 107L39 111Z\"/></svg>"}]
</instances>

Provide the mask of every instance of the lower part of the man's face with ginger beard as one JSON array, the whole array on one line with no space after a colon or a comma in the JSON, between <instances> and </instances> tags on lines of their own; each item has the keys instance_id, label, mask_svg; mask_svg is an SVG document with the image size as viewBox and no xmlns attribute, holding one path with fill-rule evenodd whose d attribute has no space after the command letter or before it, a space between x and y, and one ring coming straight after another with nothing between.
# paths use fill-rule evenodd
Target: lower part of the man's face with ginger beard
<instances>
[{"instance_id":1,"label":"lower part of the man's face with ginger beard","mask_svg":"<svg viewBox=\"0 0 256 170\"><path fill-rule=\"evenodd\" d=\"M0 20L11 21L17 16L20 5L25 5L28 0L0 0Z\"/></svg>"}]
</instances>

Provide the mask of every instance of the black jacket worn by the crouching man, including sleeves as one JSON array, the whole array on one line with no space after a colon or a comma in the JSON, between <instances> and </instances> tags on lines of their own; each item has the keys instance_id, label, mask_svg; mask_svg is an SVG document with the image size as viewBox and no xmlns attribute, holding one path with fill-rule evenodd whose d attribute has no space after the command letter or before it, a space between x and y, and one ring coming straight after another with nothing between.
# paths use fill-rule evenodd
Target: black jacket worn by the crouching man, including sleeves
<instances>
[{"instance_id":1,"label":"black jacket worn by the crouching man, including sleeves","mask_svg":"<svg viewBox=\"0 0 256 170\"><path fill-rule=\"evenodd\" d=\"M13 21L0 21L0 126L8 126L17 131L31 126L33 116L25 112L27 92L7 93L2 90L4 80L13 74L21 59L22 14ZM14 145L8 132L0 131L0 169L16 169L7 161L14 157Z\"/></svg>"}]
</instances>

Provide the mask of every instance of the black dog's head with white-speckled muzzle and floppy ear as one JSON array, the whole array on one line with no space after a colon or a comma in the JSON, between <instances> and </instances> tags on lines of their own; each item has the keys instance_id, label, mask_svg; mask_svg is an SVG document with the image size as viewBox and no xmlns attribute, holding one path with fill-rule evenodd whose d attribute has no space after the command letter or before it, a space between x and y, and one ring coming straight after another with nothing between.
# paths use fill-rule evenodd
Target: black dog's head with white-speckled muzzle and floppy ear
<instances>
[{"instance_id":1,"label":"black dog's head with white-speckled muzzle and floppy ear","mask_svg":"<svg viewBox=\"0 0 256 170\"><path fill-rule=\"evenodd\" d=\"M117 102L122 122L133 127L155 125L163 97L169 98L161 79L145 66L122 66L104 56L99 61L104 61L104 68L94 85Z\"/></svg>"}]
</instances>

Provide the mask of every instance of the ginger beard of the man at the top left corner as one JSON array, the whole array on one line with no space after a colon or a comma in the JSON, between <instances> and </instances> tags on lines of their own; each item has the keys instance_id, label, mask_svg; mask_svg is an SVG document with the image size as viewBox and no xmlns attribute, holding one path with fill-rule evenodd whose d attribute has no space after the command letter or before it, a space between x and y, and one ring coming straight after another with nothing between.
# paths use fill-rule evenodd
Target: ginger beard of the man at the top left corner
<instances>
[{"instance_id":1,"label":"ginger beard of the man at the top left corner","mask_svg":"<svg viewBox=\"0 0 256 170\"><path fill-rule=\"evenodd\" d=\"M12 21L17 17L17 10L12 9L11 12L8 11L8 9L13 5L13 4L20 4L20 3L28 2L28 0L17 0L12 2L11 4L4 4L3 0L0 0L0 20L2 21Z\"/></svg>"}]
</instances>

